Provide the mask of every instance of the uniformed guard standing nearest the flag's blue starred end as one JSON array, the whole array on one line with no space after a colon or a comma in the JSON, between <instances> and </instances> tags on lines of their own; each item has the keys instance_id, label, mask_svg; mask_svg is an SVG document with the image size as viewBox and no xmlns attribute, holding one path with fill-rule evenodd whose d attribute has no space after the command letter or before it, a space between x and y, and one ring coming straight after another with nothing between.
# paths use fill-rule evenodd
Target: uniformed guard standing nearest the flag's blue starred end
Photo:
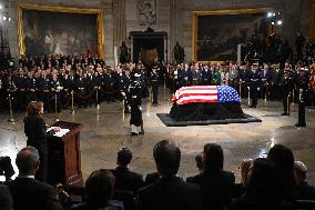
<instances>
[{"instance_id":1,"label":"uniformed guard standing nearest the flag's blue starred end","mask_svg":"<svg viewBox=\"0 0 315 210\"><path fill-rule=\"evenodd\" d=\"M261 74L258 72L258 64L257 63L253 63L252 64L252 70L248 72L247 76L247 84L248 84L248 89L250 89L250 93L251 93L251 106L250 108L256 108L257 106L257 96L258 96L258 91L261 90Z\"/></svg>"}]
</instances>

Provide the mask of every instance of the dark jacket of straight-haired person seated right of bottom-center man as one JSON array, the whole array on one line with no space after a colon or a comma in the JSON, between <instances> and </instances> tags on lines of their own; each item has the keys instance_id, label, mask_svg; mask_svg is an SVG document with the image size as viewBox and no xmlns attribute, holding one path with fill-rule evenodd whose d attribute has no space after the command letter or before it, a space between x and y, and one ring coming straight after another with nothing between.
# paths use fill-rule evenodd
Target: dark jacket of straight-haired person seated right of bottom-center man
<instances>
[{"instance_id":1,"label":"dark jacket of straight-haired person seated right of bottom-center man","mask_svg":"<svg viewBox=\"0 0 315 210\"><path fill-rule=\"evenodd\" d=\"M202 172L189 180L201 187L203 209L224 209L231 201L235 177L233 172Z\"/></svg>"}]
</instances>

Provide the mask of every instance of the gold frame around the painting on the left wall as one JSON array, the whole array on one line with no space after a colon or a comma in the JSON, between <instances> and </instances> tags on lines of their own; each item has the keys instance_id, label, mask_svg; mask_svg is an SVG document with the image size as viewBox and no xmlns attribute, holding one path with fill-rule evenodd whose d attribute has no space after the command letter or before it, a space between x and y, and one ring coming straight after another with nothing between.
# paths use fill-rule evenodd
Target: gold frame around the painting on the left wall
<instances>
[{"instance_id":1,"label":"gold frame around the painting on the left wall","mask_svg":"<svg viewBox=\"0 0 315 210\"><path fill-rule=\"evenodd\" d=\"M23 32L23 10L96 14L98 54L104 59L105 54L104 54L104 10L103 9L19 3L18 4L18 37L19 37L20 56L26 54L26 43L24 43L24 32Z\"/></svg>"}]
</instances>

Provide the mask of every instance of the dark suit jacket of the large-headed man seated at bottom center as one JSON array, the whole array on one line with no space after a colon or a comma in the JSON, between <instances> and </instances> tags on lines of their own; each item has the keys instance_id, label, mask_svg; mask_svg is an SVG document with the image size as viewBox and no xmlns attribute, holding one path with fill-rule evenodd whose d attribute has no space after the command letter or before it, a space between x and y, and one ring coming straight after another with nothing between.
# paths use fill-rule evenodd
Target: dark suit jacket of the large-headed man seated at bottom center
<instances>
[{"instance_id":1,"label":"dark suit jacket of the large-headed man seated at bottom center","mask_svg":"<svg viewBox=\"0 0 315 210\"><path fill-rule=\"evenodd\" d=\"M200 187L179 177L160 178L138 191L139 210L200 210Z\"/></svg>"}]
</instances>

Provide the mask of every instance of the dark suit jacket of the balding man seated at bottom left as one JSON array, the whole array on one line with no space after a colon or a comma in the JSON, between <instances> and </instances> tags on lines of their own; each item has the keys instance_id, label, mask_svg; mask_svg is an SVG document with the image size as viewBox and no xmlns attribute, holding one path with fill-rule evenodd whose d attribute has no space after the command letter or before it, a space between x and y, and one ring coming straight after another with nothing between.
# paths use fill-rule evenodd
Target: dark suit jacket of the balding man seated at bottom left
<instances>
[{"instance_id":1,"label":"dark suit jacket of the balding man seated at bottom left","mask_svg":"<svg viewBox=\"0 0 315 210\"><path fill-rule=\"evenodd\" d=\"M13 198L14 210L61 210L52 186L31 178L16 178L6 183Z\"/></svg>"}]
</instances>

